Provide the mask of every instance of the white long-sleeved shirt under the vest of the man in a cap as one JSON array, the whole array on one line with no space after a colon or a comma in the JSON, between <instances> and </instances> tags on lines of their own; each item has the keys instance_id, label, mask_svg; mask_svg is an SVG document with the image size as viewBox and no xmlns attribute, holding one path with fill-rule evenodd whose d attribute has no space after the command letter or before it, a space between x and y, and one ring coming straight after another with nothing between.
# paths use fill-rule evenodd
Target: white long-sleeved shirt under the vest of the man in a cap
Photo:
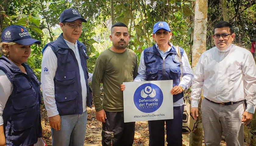
<instances>
[{"instance_id":1,"label":"white long-sleeved shirt under the vest of the man in a cap","mask_svg":"<svg viewBox=\"0 0 256 146\"><path fill-rule=\"evenodd\" d=\"M65 40L65 39L64 39ZM82 101L83 101L83 111L85 112L87 109L86 106L86 98L87 98L87 86L86 81L84 77L84 70L81 65L81 59L79 55L79 50L76 43L71 43L67 40L65 40L68 47L73 50L76 60L78 62L79 66L79 73L80 73L80 81L82 86ZM44 74L44 68L48 69L48 74ZM57 70L57 57L52 51L52 48L50 46L46 47L44 50L43 58L42 58L42 72L41 72L41 89L43 92L43 98L44 98L44 105L47 110L48 117L56 116L59 114L57 110L57 106L55 103L55 91L54 91L54 81L55 78L55 72ZM89 73L88 82L91 82L92 74Z\"/></svg>"}]
</instances>

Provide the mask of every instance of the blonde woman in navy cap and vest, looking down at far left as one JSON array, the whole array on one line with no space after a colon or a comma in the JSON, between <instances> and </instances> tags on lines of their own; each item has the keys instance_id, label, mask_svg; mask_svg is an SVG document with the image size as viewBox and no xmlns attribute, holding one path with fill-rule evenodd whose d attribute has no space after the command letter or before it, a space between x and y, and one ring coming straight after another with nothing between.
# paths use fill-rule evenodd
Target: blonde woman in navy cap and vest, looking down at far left
<instances>
[{"instance_id":1,"label":"blonde woman in navy cap and vest, looking down at far left","mask_svg":"<svg viewBox=\"0 0 256 146\"><path fill-rule=\"evenodd\" d=\"M42 136L40 82L25 64L30 46L41 44L23 26L12 25L0 43L0 146L33 146Z\"/></svg>"}]
</instances>

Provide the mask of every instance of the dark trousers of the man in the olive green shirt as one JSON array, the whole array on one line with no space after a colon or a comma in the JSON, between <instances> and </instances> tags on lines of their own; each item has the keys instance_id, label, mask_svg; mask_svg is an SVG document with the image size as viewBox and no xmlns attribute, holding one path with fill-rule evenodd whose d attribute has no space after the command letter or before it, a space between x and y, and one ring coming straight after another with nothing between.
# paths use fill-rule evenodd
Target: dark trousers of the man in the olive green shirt
<instances>
[{"instance_id":1,"label":"dark trousers of the man in the olive green shirt","mask_svg":"<svg viewBox=\"0 0 256 146\"><path fill-rule=\"evenodd\" d=\"M106 112L106 111L105 111ZM132 146L135 122L124 123L123 112L106 112L102 123L102 146Z\"/></svg>"}]
</instances>

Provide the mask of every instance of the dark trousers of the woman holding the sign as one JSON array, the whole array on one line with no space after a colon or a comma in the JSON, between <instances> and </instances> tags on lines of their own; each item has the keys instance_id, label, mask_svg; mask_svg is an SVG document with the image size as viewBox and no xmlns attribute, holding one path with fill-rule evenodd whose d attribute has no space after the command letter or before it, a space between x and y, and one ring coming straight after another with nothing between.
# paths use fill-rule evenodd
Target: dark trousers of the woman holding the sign
<instances>
[{"instance_id":1,"label":"dark trousers of the woman holding the sign","mask_svg":"<svg viewBox=\"0 0 256 146\"><path fill-rule=\"evenodd\" d=\"M173 107L173 119L148 121L149 146L182 146L183 106Z\"/></svg>"}]
</instances>

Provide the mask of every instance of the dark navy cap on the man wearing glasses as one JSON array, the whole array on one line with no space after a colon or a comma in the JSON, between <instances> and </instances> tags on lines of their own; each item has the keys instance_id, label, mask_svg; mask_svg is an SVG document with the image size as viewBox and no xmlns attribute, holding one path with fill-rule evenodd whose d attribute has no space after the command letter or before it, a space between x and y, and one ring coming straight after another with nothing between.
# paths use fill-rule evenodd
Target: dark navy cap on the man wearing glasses
<instances>
[{"instance_id":1,"label":"dark navy cap on the man wearing glasses","mask_svg":"<svg viewBox=\"0 0 256 146\"><path fill-rule=\"evenodd\" d=\"M77 19L81 19L82 22L87 22L84 18L81 17L79 12L76 9L73 9L73 8L64 10L59 16L59 20L60 20L61 23L63 23L63 22L73 22Z\"/></svg>"}]
</instances>

